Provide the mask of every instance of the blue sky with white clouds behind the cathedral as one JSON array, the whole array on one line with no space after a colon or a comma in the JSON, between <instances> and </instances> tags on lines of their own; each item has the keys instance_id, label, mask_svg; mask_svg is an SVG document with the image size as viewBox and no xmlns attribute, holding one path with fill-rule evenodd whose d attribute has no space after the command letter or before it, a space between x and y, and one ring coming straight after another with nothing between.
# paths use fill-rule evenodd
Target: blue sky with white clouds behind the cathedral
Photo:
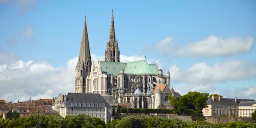
<instances>
[{"instance_id":1,"label":"blue sky with white clouds behind the cathedral","mask_svg":"<svg viewBox=\"0 0 256 128\"><path fill-rule=\"evenodd\" d=\"M121 60L146 55L181 94L256 98L255 0L0 0L0 98L73 92L85 13L102 60L112 7Z\"/></svg>"}]
</instances>

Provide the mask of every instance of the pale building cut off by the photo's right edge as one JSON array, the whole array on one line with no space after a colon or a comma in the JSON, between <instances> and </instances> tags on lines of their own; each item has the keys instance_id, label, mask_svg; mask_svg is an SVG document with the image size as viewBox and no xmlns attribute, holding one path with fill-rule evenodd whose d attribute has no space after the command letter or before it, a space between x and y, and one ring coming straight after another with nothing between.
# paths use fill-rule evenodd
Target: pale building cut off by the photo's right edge
<instances>
[{"instance_id":1,"label":"pale building cut off by the photo's right edge","mask_svg":"<svg viewBox=\"0 0 256 128\"><path fill-rule=\"evenodd\" d=\"M256 110L256 101L241 101L239 103L239 117L252 117Z\"/></svg>"}]
</instances>

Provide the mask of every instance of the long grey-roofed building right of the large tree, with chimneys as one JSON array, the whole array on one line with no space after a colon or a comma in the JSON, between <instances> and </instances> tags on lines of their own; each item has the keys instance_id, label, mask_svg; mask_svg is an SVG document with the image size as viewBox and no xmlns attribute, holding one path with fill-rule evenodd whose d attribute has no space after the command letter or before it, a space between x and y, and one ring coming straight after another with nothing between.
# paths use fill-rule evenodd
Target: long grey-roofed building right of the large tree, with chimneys
<instances>
[{"instance_id":1,"label":"long grey-roofed building right of the large tree, with chimneys","mask_svg":"<svg viewBox=\"0 0 256 128\"><path fill-rule=\"evenodd\" d=\"M207 108L203 108L204 116L239 116L239 103L242 101L255 101L251 99L237 99L237 98L209 98L206 101Z\"/></svg>"}]
</instances>

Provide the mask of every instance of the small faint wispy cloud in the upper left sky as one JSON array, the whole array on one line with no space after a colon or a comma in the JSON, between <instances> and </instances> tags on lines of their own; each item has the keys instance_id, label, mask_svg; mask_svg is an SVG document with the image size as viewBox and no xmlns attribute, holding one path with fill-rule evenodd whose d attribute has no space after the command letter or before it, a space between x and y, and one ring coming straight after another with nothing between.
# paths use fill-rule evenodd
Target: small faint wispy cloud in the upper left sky
<instances>
[{"instance_id":1,"label":"small faint wispy cloud in the upper left sky","mask_svg":"<svg viewBox=\"0 0 256 128\"><path fill-rule=\"evenodd\" d=\"M27 27L27 30L21 31L19 34L15 35L13 39L7 40L6 44L12 47L17 47L18 40L35 43L35 37L33 34L33 27Z\"/></svg>"}]
</instances>

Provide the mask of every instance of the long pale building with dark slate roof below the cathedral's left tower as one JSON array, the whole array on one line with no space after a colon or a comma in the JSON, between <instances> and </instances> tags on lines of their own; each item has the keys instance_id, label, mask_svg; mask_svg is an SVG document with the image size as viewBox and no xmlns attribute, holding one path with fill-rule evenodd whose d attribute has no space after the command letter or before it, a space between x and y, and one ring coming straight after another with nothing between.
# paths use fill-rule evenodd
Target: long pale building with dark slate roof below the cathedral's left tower
<instances>
[{"instance_id":1,"label":"long pale building with dark slate roof below the cathedral's left tower","mask_svg":"<svg viewBox=\"0 0 256 128\"><path fill-rule=\"evenodd\" d=\"M105 123L110 121L111 113L112 107L107 101L100 94L93 93L68 93L59 108L59 114L64 118L67 115L85 114L100 118Z\"/></svg>"}]
</instances>

